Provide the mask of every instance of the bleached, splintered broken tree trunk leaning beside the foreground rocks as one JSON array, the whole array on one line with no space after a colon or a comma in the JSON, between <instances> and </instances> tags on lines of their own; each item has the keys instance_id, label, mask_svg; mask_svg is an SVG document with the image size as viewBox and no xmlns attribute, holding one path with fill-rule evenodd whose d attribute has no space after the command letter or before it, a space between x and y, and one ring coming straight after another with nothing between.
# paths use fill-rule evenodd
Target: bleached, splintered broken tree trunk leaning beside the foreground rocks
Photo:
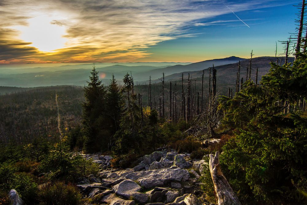
<instances>
[{"instance_id":1,"label":"bleached, splintered broken tree trunk leaning beside the foreground rocks","mask_svg":"<svg viewBox=\"0 0 307 205\"><path fill-rule=\"evenodd\" d=\"M222 173L219 160L220 152L216 152L215 156L210 154L209 169L216 193L217 205L235 205L241 204L235 192L232 190L227 179Z\"/></svg>"}]
</instances>

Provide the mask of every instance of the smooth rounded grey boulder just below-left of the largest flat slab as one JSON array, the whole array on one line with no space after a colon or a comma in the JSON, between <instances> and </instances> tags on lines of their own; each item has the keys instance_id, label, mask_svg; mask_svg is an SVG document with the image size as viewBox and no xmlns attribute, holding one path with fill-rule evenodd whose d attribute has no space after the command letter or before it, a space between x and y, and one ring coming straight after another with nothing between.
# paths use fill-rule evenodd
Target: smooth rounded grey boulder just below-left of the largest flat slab
<instances>
[{"instance_id":1,"label":"smooth rounded grey boulder just below-left of the largest flat slab","mask_svg":"<svg viewBox=\"0 0 307 205\"><path fill-rule=\"evenodd\" d=\"M130 179L123 180L113 187L115 194L129 198L132 192L138 192L141 187Z\"/></svg>"}]
</instances>

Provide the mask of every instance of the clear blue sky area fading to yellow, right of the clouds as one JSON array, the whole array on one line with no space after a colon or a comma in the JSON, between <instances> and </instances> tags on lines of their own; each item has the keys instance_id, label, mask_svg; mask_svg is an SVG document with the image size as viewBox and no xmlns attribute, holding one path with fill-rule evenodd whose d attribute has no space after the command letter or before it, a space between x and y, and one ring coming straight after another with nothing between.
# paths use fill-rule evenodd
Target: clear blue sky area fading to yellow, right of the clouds
<instances>
[{"instance_id":1,"label":"clear blue sky area fading to yellow, right of the clouds","mask_svg":"<svg viewBox=\"0 0 307 205\"><path fill-rule=\"evenodd\" d=\"M297 3L299 1L275 6L274 2L268 8L234 11L250 28L232 13L204 19L199 22L221 22L208 26L191 24L189 33L195 34L195 37L178 38L152 46L148 51L153 54L146 59L162 60L167 56L171 60L185 56L183 59L194 62L229 56L249 57L251 50L255 57L274 56L275 41L278 53L283 53L283 45L278 41L287 40L289 33L295 32L294 20L298 9L292 4Z\"/></svg>"}]
</instances>

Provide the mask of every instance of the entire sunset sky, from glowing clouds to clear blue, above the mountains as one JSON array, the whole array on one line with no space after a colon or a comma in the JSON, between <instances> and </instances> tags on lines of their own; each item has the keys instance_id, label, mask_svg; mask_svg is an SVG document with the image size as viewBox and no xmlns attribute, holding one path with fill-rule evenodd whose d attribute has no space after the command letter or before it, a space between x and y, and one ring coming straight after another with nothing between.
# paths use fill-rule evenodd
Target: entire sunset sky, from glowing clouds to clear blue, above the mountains
<instances>
[{"instance_id":1,"label":"entire sunset sky, from glowing clouds to clear blue, above the mountains","mask_svg":"<svg viewBox=\"0 0 307 205\"><path fill-rule=\"evenodd\" d=\"M1 64L274 56L296 0L1 0ZM278 53L282 53L278 42Z\"/></svg>"}]
</instances>

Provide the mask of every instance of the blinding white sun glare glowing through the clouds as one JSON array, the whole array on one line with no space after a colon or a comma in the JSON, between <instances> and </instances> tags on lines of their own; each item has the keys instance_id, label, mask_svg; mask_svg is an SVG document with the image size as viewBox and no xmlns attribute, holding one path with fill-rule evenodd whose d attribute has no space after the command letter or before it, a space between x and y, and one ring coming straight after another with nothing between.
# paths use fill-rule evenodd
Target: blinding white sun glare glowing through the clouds
<instances>
[{"instance_id":1,"label":"blinding white sun glare glowing through the clouds","mask_svg":"<svg viewBox=\"0 0 307 205\"><path fill-rule=\"evenodd\" d=\"M62 37L66 34L65 27L51 24L57 18L49 16L36 16L28 20L28 26L16 26L21 32L20 38L25 42L32 42L31 46L43 52L52 52L63 48L67 39Z\"/></svg>"}]
</instances>

